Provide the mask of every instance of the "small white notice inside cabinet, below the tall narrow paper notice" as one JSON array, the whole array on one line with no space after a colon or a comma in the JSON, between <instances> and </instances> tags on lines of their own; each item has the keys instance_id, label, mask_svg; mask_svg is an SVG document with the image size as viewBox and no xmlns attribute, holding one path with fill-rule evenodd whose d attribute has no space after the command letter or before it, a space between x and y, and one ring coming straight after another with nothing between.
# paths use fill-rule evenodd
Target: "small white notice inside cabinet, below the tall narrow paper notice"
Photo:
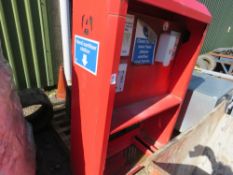
<instances>
[{"instance_id":1,"label":"small white notice inside cabinet, below the tall narrow paper notice","mask_svg":"<svg viewBox=\"0 0 233 175\"><path fill-rule=\"evenodd\" d=\"M116 82L116 92L122 92L125 85L125 77L126 77L127 64L122 63L119 65L117 82Z\"/></svg>"}]
</instances>

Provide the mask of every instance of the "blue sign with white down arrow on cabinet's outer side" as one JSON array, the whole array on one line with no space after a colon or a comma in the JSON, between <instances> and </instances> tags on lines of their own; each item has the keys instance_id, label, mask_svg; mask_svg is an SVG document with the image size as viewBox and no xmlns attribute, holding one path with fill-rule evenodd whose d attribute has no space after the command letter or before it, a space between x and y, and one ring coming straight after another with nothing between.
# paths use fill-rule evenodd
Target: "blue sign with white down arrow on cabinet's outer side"
<instances>
[{"instance_id":1,"label":"blue sign with white down arrow on cabinet's outer side","mask_svg":"<svg viewBox=\"0 0 233 175\"><path fill-rule=\"evenodd\" d=\"M99 42L75 36L75 63L88 72L97 75Z\"/></svg>"}]
</instances>

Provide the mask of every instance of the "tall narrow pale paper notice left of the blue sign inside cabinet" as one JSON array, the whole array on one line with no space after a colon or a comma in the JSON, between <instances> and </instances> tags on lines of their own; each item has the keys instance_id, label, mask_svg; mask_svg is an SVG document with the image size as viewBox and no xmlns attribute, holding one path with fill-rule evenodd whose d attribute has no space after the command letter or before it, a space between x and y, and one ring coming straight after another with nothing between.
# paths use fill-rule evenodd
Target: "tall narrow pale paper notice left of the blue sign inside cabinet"
<instances>
[{"instance_id":1,"label":"tall narrow pale paper notice left of the blue sign inside cabinet","mask_svg":"<svg viewBox=\"0 0 233 175\"><path fill-rule=\"evenodd\" d=\"M133 25L134 25L134 15L127 15L125 22L124 38L121 48L121 56L129 56L132 33L133 33Z\"/></svg>"}]
</instances>

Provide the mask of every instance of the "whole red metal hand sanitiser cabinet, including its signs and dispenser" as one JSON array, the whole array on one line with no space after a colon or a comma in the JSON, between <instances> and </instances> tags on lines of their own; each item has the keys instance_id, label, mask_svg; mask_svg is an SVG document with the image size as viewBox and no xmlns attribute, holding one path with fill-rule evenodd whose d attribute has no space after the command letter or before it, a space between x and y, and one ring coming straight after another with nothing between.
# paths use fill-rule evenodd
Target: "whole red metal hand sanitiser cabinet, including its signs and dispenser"
<instances>
[{"instance_id":1,"label":"whole red metal hand sanitiser cabinet, including its signs and dispenser","mask_svg":"<svg viewBox=\"0 0 233 175\"><path fill-rule=\"evenodd\" d=\"M75 175L125 174L169 141L210 20L195 0L73 1Z\"/></svg>"}]
</instances>

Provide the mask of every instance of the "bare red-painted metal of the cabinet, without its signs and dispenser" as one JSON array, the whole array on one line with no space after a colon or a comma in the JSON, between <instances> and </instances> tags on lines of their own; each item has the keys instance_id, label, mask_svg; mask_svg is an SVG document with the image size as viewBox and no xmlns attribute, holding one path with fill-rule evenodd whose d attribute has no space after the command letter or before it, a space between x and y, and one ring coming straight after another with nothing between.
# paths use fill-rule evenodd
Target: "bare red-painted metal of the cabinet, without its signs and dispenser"
<instances>
[{"instance_id":1,"label":"bare red-painted metal of the cabinet, without its signs and dispenser","mask_svg":"<svg viewBox=\"0 0 233 175\"><path fill-rule=\"evenodd\" d=\"M190 32L170 66L135 66L130 62L132 47L129 57L120 57L127 13L146 20L153 28L158 25L153 19L161 18L171 21L180 32ZM87 22L90 17L91 24ZM108 169L107 157L134 144L136 136L154 149L168 142L210 20L208 10L195 0L73 0L72 42L79 35L100 43L96 76L73 64L74 175L103 174ZM118 72L120 61L127 62L128 68L124 91L116 94L110 79ZM135 124L133 130L109 141L112 134ZM137 145L141 147L141 143Z\"/></svg>"}]
</instances>

